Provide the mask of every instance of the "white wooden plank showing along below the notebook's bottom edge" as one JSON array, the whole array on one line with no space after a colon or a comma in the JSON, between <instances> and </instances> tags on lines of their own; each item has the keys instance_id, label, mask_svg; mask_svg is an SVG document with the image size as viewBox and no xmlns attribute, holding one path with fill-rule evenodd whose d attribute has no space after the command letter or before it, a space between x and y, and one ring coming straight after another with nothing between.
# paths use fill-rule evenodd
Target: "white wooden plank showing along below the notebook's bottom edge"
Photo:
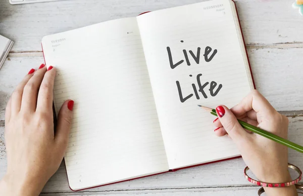
<instances>
[{"instance_id":1,"label":"white wooden plank showing along below the notebook's bottom edge","mask_svg":"<svg viewBox=\"0 0 303 196\"><path fill-rule=\"evenodd\" d=\"M289 140L303 145L303 116L289 117ZM6 171L6 153L4 147L4 127L0 127L0 178ZM303 154L289 149L289 163L299 168L303 168ZM161 175L126 181L122 183L92 188L83 192L98 192L105 194L107 191L130 191L129 194L137 194L139 190L161 190L163 192L170 189L193 189L193 188L215 188L215 187L235 187L252 186L243 177L245 164L242 159L229 160L189 169L170 172ZM190 192L190 190L188 190ZM64 163L61 164L57 173L47 182L43 193L57 192L64 195L72 192L69 189ZM62 194L61 194L62 193ZM63 194L64 193L64 194ZM76 194L76 193L75 193ZM87 193L88 194L88 193ZM101 194L101 195L102 195ZM73 195L73 194L72 194ZM238 192L237 192L237 195Z\"/></svg>"}]
</instances>

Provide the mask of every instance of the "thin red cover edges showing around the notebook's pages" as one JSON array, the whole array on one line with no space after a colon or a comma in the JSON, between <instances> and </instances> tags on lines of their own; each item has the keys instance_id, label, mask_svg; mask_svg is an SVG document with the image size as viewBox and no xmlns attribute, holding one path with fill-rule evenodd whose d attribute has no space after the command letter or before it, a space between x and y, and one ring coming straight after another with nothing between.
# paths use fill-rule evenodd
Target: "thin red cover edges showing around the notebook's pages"
<instances>
[{"instance_id":1,"label":"thin red cover edges showing around the notebook's pages","mask_svg":"<svg viewBox=\"0 0 303 196\"><path fill-rule=\"evenodd\" d=\"M234 4L234 0L231 0ZM235 7L236 7L236 4L235 4ZM148 11L150 12L150 11ZM146 14L148 12L143 12L141 14L139 14L138 16L142 15L142 14ZM244 37L243 37L243 31L242 31L242 28L241 28L241 24L240 24L240 20L239 20L239 14L238 14L238 10L237 10L237 7L236 7L236 12L237 12L237 18L238 18L238 21L239 21L239 25L240 25L240 29L241 29L241 35L242 35L242 38L243 38L243 43L244 43L244 46L245 46L245 41L244 41ZM43 53L43 46L42 46L42 53ZM250 73L251 73L251 79L252 79L252 83L254 84L254 89L256 89L256 85L255 85L255 81L254 81L254 76L252 75L252 71L251 71L251 66L250 66L250 62L249 62L249 58L248 58L248 54L247 54L247 49L245 47L245 53L246 53L246 56L247 56L247 60L248 60L248 65L249 65L249 70L250 70ZM43 53L43 58L44 58L44 63L46 64L45 62L45 57L44 57L44 53ZM57 118L56 118L56 113L55 113L55 109L53 107L53 110L54 110L54 123L56 125L57 123ZM56 126L55 126L56 127ZM222 159L222 160L218 160L218 161L213 161L213 162L208 162L208 163L203 163L203 164L197 164L197 165L193 165L193 166L188 166L188 167L183 167L183 168L178 168L178 169L172 169L172 170L169 170L167 172L175 172L175 171L178 171L178 170L182 170L182 169L187 169L187 168L192 168L192 167L197 167L197 166L202 166L202 165L207 165L207 164L212 164L212 163L217 163L217 162L222 162L222 161L227 161L227 160L232 160L232 159L238 159L238 158L241 158L241 156L236 156L236 157L233 157L233 158L228 158L228 159ZM66 168L65 168L66 169ZM66 171L67 172L67 171ZM100 186L106 186L106 185L110 185L110 184L116 184L116 183L120 183L120 182L125 182L125 181L129 181L129 180L135 180L135 179L139 179L139 178L145 178L145 177L149 177L149 176L155 176L155 175L158 175L158 174L164 174L164 173L167 173L167 172L161 172L161 173L157 173L157 174L152 174L152 175L147 175L147 176L142 176L142 177L138 177L138 178L132 178L132 179L128 179L128 180L122 180L122 181L119 181L119 182L113 182L113 183L108 183L108 184L103 184L103 185L98 185L98 186L93 186L93 187L90 187L90 188L96 188L96 187L100 187ZM68 177L67 177L67 180L68 180ZM70 187L70 186L69 186ZM72 191L81 191L81 190L86 190L86 189L89 189L89 188L83 188L83 189L79 189L79 190L73 190L71 187L70 189Z\"/></svg>"}]
</instances>

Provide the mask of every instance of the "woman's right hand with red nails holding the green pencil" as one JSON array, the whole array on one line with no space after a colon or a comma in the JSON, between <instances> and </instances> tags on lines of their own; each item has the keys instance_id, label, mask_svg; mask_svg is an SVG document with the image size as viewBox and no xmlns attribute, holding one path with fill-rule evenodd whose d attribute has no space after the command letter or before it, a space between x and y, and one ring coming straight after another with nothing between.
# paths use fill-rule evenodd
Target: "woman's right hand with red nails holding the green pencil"
<instances>
[{"instance_id":1,"label":"woman's right hand with red nails holding the green pencil","mask_svg":"<svg viewBox=\"0 0 303 196\"><path fill-rule=\"evenodd\" d=\"M237 119L287 138L288 119L257 90L251 91L231 109L224 105L216 108L218 119L214 125L216 135L228 134L237 145L245 164L258 180L267 183L291 181L288 172L287 147L261 135L243 129ZM264 187L267 195L297 195L294 185L283 188Z\"/></svg>"}]
</instances>

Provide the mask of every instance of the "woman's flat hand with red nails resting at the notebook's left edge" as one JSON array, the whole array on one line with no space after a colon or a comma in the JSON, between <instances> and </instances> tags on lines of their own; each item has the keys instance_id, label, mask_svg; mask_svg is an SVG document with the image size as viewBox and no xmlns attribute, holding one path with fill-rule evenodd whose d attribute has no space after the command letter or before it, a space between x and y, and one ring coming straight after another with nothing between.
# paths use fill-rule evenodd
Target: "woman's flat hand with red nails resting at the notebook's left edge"
<instances>
[{"instance_id":1,"label":"woman's flat hand with red nails resting at the notebook's left edge","mask_svg":"<svg viewBox=\"0 0 303 196\"><path fill-rule=\"evenodd\" d=\"M63 103L54 133L53 88L56 68L31 69L17 86L6 108L7 173L0 195L39 195L58 170L71 129L72 100Z\"/></svg>"}]
</instances>

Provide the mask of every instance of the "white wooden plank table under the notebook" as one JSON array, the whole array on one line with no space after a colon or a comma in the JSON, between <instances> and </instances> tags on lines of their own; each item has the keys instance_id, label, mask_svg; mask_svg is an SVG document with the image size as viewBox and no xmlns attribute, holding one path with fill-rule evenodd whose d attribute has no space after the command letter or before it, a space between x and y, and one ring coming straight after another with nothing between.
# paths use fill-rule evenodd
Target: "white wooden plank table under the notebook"
<instances>
[{"instance_id":1,"label":"white wooden plank table under the notebook","mask_svg":"<svg viewBox=\"0 0 303 196\"><path fill-rule=\"evenodd\" d=\"M5 106L30 68L44 62L42 36L201 1L71 0L12 6L1 0L0 34L15 45L0 70L0 178L7 165ZM291 8L293 2L238 0L236 5L257 89L289 117L289 139L303 145L303 17ZM303 154L290 149L289 162L303 169ZM244 179L244 167L236 159L73 192L62 163L41 195L256 195L259 187Z\"/></svg>"}]
</instances>

